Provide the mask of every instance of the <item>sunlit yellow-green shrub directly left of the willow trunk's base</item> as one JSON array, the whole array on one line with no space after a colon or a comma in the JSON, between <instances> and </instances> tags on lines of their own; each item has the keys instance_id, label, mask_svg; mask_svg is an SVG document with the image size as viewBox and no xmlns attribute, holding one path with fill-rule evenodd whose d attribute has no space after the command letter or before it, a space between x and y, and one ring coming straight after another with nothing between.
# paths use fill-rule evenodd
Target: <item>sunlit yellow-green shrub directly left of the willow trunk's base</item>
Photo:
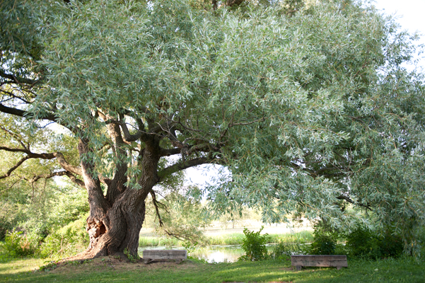
<instances>
[{"instance_id":1,"label":"sunlit yellow-green shrub directly left of the willow trunk's base","mask_svg":"<svg viewBox=\"0 0 425 283\"><path fill-rule=\"evenodd\" d=\"M82 217L61 229L50 233L40 246L41 258L66 258L88 246L86 217Z\"/></svg>"}]
</instances>

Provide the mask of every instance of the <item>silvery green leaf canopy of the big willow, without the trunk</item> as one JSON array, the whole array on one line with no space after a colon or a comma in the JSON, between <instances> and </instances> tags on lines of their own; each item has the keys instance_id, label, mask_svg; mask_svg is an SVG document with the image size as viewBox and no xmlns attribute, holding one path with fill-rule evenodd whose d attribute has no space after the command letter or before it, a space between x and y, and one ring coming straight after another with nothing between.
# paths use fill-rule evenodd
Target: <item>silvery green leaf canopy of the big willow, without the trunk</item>
<instances>
[{"instance_id":1,"label":"silvery green leaf canopy of the big willow, without the trunk","mask_svg":"<svg viewBox=\"0 0 425 283\"><path fill-rule=\"evenodd\" d=\"M185 1L51 5L40 60L50 88L35 117L54 105L99 147L99 108L168 117L184 126L180 141L215 145L214 163L231 171L207 192L217 211L366 221L342 209L350 204L414 243L425 215L424 80L402 65L414 37L390 19L356 1L293 16L276 6L203 13Z\"/></svg>"}]
</instances>

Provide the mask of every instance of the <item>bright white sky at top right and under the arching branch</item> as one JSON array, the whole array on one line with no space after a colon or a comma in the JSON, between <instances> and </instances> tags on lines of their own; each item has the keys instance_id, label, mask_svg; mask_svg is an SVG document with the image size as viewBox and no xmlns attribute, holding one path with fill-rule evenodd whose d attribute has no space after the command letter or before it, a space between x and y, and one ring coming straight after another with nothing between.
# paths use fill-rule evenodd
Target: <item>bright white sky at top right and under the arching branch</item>
<instances>
[{"instance_id":1,"label":"bright white sky at top right and under the arching branch","mask_svg":"<svg viewBox=\"0 0 425 283\"><path fill-rule=\"evenodd\" d=\"M417 44L425 45L425 0L375 0L373 4L388 16L395 16L402 30L409 33L418 32L422 35ZM425 58L421 59L419 66L425 71ZM185 184L191 183L203 186L211 183L214 176L219 172L219 166L198 166L186 170Z\"/></svg>"}]
</instances>

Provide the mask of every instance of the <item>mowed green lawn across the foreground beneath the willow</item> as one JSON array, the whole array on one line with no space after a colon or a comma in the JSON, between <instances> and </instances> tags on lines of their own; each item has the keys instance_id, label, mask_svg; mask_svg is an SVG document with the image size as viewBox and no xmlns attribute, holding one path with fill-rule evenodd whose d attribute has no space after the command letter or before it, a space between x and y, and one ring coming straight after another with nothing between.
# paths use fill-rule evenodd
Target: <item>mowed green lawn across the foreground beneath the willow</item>
<instances>
[{"instance_id":1,"label":"mowed green lawn across the foreground beneath the willow","mask_svg":"<svg viewBox=\"0 0 425 283\"><path fill-rule=\"evenodd\" d=\"M349 260L349 267L309 267L293 270L289 260L204 263L122 262L112 257L89 262L68 262L51 271L34 271L42 260L0 263L0 282L425 282L425 263L399 260Z\"/></svg>"}]
</instances>

